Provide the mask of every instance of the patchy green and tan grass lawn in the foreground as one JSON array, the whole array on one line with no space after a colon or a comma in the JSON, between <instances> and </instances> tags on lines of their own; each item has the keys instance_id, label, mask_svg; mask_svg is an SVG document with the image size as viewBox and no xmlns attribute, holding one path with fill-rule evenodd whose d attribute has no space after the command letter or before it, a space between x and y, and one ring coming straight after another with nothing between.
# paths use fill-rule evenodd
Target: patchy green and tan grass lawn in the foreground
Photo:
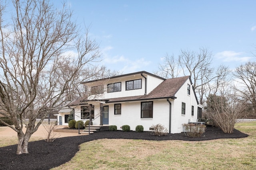
<instances>
[{"instance_id":1,"label":"patchy green and tan grass lawn in the foreground","mask_svg":"<svg viewBox=\"0 0 256 170\"><path fill-rule=\"evenodd\" d=\"M237 123L250 135L242 139L212 141L144 141L100 139L80 145L66 164L53 170L255 170L256 121Z\"/></svg>"}]
</instances>

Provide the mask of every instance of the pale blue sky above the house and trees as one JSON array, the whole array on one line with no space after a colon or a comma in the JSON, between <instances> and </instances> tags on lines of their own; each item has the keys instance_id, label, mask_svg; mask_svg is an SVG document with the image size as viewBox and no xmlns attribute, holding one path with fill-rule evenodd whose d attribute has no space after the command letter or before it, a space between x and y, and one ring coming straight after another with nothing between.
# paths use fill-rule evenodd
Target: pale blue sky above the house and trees
<instances>
[{"instance_id":1,"label":"pale blue sky above the house and trees","mask_svg":"<svg viewBox=\"0 0 256 170\"><path fill-rule=\"evenodd\" d=\"M59 5L60 2L53 1ZM67 0L77 23L91 25L102 64L153 72L166 53L207 47L213 66L256 61L255 0Z\"/></svg>"}]
</instances>

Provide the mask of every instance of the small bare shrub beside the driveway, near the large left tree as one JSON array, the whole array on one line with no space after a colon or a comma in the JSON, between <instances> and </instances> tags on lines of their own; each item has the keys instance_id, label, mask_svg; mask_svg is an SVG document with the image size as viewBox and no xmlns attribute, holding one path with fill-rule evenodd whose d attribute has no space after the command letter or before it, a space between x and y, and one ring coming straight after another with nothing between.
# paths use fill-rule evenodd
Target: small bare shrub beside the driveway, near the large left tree
<instances>
[{"instance_id":1,"label":"small bare shrub beside the driveway, near the large left tree","mask_svg":"<svg viewBox=\"0 0 256 170\"><path fill-rule=\"evenodd\" d=\"M42 125L44 126L44 129L46 130L46 132L44 132L44 135L46 137L46 139L44 139L44 140L46 142L53 142L55 139L60 137L59 133L54 132L54 129L56 129L58 127L58 125L55 125L55 122L50 122L49 125L48 125L48 123L43 122Z\"/></svg>"}]
</instances>

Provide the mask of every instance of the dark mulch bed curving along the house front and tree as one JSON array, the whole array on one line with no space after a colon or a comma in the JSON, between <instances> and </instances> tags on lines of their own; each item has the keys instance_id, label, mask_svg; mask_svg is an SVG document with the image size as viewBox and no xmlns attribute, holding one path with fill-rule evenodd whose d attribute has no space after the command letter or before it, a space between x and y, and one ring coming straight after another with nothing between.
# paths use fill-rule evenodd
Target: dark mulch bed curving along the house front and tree
<instances>
[{"instance_id":1,"label":"dark mulch bed curving along the house front and tree","mask_svg":"<svg viewBox=\"0 0 256 170\"><path fill-rule=\"evenodd\" d=\"M226 134L220 129L207 127L202 137L190 138L184 133L168 134L158 137L145 131L137 133L134 131L103 131L92 135L58 138L52 143L44 140L34 141L28 144L29 154L16 154L17 145L0 148L0 170L48 170L68 162L79 150L81 143L95 139L144 139L144 140L182 140L182 141L206 141L223 138L243 138L248 135L234 129L234 133Z\"/></svg>"}]
</instances>

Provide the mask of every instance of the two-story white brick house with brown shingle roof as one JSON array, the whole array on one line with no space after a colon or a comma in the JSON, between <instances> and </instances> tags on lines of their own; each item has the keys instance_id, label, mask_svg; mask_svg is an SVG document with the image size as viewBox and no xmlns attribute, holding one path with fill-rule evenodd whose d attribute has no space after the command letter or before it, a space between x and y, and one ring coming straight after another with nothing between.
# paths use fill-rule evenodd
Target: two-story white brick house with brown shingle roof
<instances>
[{"instance_id":1,"label":"two-story white brick house with brown shingle roof","mask_svg":"<svg viewBox=\"0 0 256 170\"><path fill-rule=\"evenodd\" d=\"M169 133L181 133L182 124L197 121L202 106L198 103L190 76L165 79L146 71L84 82L88 98L69 104L75 120L93 125L130 125L135 131L143 125L164 125Z\"/></svg>"}]
</instances>

